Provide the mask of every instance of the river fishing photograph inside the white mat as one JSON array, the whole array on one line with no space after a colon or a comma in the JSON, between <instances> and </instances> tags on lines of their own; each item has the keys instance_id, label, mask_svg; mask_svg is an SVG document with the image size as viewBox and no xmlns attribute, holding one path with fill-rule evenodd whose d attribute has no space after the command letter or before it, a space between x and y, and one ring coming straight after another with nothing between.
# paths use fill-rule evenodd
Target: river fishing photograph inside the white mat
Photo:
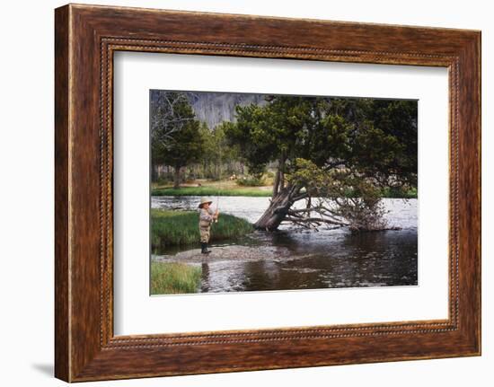
<instances>
[{"instance_id":1,"label":"river fishing photograph inside the white mat","mask_svg":"<svg viewBox=\"0 0 494 387\"><path fill-rule=\"evenodd\" d=\"M418 101L150 90L150 294L418 286Z\"/></svg>"}]
</instances>

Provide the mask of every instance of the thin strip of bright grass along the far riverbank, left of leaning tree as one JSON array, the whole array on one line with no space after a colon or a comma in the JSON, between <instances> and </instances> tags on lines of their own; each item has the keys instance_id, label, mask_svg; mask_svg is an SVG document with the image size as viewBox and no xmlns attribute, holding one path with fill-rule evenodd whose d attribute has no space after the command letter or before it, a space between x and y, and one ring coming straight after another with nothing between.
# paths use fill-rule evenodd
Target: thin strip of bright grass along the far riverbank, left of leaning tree
<instances>
[{"instance_id":1,"label":"thin strip of bright grass along the far riverbank, left of leaning tree","mask_svg":"<svg viewBox=\"0 0 494 387\"><path fill-rule=\"evenodd\" d=\"M216 187L181 187L159 188L151 190L152 196L246 196L246 197L270 197L272 189L261 189L260 187L242 188L216 188Z\"/></svg>"}]
</instances>

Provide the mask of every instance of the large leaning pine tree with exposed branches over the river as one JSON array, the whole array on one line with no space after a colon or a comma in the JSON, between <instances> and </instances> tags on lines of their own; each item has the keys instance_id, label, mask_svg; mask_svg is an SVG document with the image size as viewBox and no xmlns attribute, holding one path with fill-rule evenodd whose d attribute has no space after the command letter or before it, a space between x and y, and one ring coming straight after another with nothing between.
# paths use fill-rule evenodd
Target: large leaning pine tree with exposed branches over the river
<instances>
[{"instance_id":1,"label":"large leaning pine tree with exposed branches over the river","mask_svg":"<svg viewBox=\"0 0 494 387\"><path fill-rule=\"evenodd\" d=\"M417 185L417 103L268 96L226 126L251 171L276 163L269 207L254 224L386 228L382 192ZM304 206L294 204L304 200Z\"/></svg>"}]
</instances>

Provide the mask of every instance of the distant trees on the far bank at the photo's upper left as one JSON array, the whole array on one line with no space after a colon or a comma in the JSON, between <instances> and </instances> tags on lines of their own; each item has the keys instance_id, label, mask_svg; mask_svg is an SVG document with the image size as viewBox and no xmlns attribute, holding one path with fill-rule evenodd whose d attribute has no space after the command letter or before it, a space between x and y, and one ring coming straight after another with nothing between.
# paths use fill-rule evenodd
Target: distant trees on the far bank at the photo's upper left
<instances>
[{"instance_id":1,"label":"distant trees on the far bank at the photo's upper left","mask_svg":"<svg viewBox=\"0 0 494 387\"><path fill-rule=\"evenodd\" d=\"M225 127L207 128L184 93L152 91L150 113L153 181L172 174L173 186L179 188L184 176L220 180L245 171L239 148L228 142Z\"/></svg>"}]
</instances>

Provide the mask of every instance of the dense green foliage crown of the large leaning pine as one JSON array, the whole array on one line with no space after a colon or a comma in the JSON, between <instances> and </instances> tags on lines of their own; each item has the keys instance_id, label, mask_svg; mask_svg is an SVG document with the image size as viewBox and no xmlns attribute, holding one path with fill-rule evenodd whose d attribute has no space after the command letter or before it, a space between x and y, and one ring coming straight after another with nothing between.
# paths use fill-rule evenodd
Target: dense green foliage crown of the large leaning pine
<instances>
[{"instance_id":1,"label":"dense green foliage crown of the large leaning pine","mask_svg":"<svg viewBox=\"0 0 494 387\"><path fill-rule=\"evenodd\" d=\"M296 159L366 177L417 184L417 101L268 96L268 104L236 107L226 136L250 171ZM281 163L283 162L283 163Z\"/></svg>"}]
</instances>

